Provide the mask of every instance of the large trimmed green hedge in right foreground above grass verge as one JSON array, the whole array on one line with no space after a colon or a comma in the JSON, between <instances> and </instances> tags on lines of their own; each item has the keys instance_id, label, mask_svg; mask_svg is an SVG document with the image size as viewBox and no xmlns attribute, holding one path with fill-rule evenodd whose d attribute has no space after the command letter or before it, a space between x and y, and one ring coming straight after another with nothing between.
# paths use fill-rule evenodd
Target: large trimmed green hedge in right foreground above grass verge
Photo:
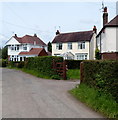
<instances>
[{"instance_id":1,"label":"large trimmed green hedge in right foreground above grass verge","mask_svg":"<svg viewBox=\"0 0 118 120\"><path fill-rule=\"evenodd\" d=\"M84 61L83 82L107 92L118 102L118 61Z\"/></svg>"}]
</instances>

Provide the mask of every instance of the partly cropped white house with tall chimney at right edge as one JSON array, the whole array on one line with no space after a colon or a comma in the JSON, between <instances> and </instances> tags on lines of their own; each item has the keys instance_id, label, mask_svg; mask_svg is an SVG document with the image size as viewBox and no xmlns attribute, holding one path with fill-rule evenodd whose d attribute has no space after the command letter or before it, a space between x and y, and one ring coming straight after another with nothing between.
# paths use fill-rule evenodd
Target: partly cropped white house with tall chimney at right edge
<instances>
[{"instance_id":1,"label":"partly cropped white house with tall chimney at right edge","mask_svg":"<svg viewBox=\"0 0 118 120\"><path fill-rule=\"evenodd\" d=\"M107 7L103 11L103 28L97 35L97 47L102 59L118 59L118 15L108 22Z\"/></svg>"}]
</instances>

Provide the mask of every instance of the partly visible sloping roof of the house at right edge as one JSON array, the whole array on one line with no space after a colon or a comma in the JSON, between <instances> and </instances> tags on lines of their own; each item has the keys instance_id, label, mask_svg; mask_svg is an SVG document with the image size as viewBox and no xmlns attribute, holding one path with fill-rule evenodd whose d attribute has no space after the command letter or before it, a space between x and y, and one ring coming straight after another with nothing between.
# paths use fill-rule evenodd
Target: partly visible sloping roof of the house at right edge
<instances>
[{"instance_id":1,"label":"partly visible sloping roof of the house at right edge","mask_svg":"<svg viewBox=\"0 0 118 120\"><path fill-rule=\"evenodd\" d=\"M118 27L118 15L114 17L110 22L105 24L96 37L98 37L106 27Z\"/></svg>"}]
</instances>

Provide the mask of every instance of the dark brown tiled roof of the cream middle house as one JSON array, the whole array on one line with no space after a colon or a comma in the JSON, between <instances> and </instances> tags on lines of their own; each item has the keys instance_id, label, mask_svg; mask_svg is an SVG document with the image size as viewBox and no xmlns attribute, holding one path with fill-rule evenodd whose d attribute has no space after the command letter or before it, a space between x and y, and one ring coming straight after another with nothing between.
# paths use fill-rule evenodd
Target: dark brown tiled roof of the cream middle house
<instances>
[{"instance_id":1,"label":"dark brown tiled roof of the cream middle house","mask_svg":"<svg viewBox=\"0 0 118 120\"><path fill-rule=\"evenodd\" d=\"M92 36L93 36L92 30L72 33L60 33L54 38L52 43L90 41Z\"/></svg>"}]
</instances>

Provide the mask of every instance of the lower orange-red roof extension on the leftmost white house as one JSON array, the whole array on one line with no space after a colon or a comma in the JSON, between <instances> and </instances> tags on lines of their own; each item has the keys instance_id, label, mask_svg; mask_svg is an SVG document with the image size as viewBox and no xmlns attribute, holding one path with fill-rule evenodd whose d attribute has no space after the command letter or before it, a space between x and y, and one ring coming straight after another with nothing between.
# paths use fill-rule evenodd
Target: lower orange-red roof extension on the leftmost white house
<instances>
[{"instance_id":1,"label":"lower orange-red roof extension on the leftmost white house","mask_svg":"<svg viewBox=\"0 0 118 120\"><path fill-rule=\"evenodd\" d=\"M39 55L44 48L32 48L29 52L20 52L19 55Z\"/></svg>"}]
</instances>

